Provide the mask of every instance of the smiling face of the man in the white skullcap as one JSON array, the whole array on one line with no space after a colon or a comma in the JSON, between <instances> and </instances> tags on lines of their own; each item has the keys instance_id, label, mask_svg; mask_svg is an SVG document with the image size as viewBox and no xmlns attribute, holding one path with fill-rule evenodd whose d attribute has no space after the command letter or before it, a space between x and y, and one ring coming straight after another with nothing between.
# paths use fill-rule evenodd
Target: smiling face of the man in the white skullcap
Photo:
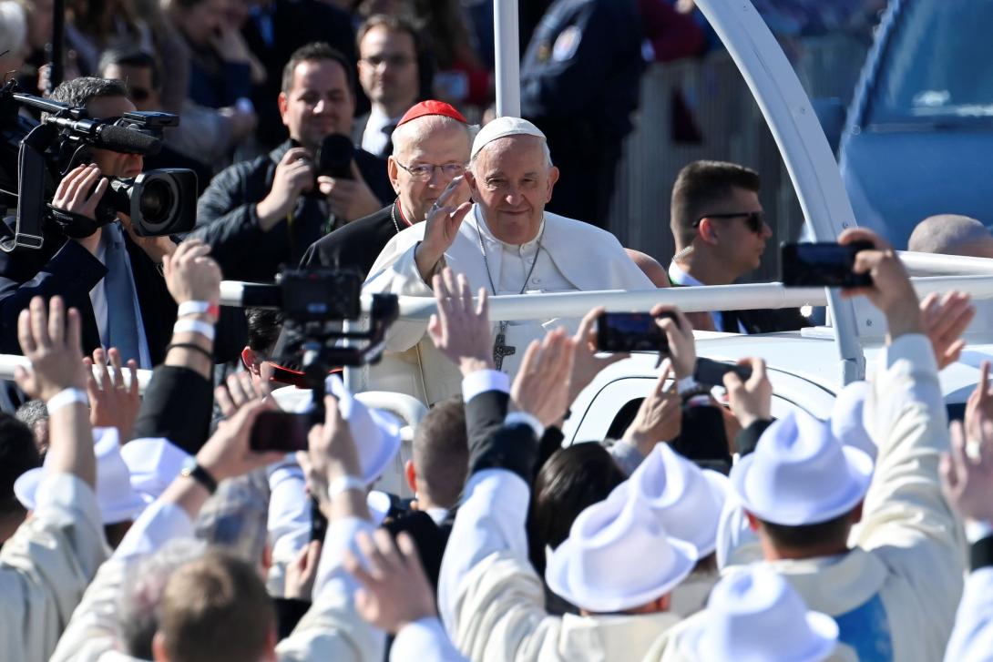
<instances>
[{"instance_id":1,"label":"smiling face of the man in the white skullcap","mask_svg":"<svg viewBox=\"0 0 993 662\"><path fill-rule=\"evenodd\" d=\"M558 168L548 168L540 138L507 136L480 151L466 179L494 236L522 244L538 234Z\"/></svg>"}]
</instances>

